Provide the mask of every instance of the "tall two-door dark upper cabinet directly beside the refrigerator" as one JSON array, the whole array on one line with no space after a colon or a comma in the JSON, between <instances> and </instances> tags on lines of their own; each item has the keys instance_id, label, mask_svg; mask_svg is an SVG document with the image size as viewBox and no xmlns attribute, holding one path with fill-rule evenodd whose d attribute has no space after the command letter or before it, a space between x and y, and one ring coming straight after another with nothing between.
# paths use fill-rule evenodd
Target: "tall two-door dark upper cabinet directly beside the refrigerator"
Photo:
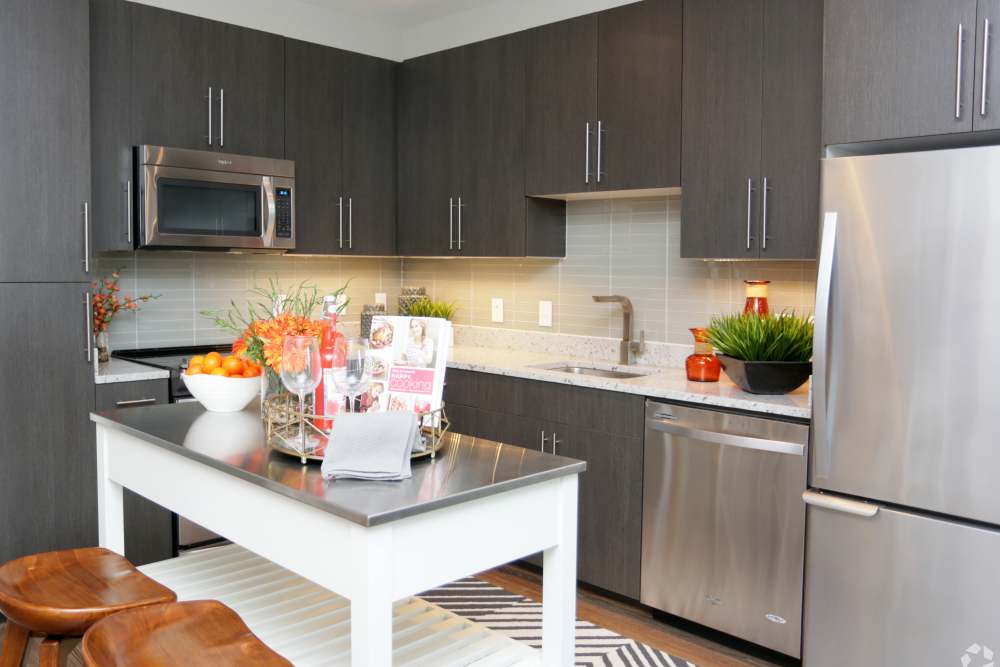
<instances>
[{"instance_id":1,"label":"tall two-door dark upper cabinet directly beside the refrigerator","mask_svg":"<svg viewBox=\"0 0 1000 667\"><path fill-rule=\"evenodd\" d=\"M815 257L822 10L685 6L682 257Z\"/></svg>"}]
</instances>

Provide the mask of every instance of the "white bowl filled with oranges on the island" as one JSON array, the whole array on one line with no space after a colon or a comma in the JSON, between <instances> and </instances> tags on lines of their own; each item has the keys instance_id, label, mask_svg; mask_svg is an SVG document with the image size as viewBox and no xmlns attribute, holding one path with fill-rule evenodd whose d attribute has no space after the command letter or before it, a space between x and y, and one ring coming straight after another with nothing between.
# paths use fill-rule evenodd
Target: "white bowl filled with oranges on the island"
<instances>
[{"instance_id":1,"label":"white bowl filled with oranges on the island","mask_svg":"<svg viewBox=\"0 0 1000 667\"><path fill-rule=\"evenodd\" d=\"M238 412L260 395L260 366L218 352L191 357L184 384L210 412Z\"/></svg>"}]
</instances>

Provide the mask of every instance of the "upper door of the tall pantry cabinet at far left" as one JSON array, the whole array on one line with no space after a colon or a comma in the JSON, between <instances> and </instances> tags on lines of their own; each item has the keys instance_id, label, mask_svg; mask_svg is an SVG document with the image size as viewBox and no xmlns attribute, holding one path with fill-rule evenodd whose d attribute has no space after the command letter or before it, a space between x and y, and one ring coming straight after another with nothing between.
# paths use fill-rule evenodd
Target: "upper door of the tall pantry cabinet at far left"
<instances>
[{"instance_id":1,"label":"upper door of the tall pantry cabinet at far left","mask_svg":"<svg viewBox=\"0 0 1000 667\"><path fill-rule=\"evenodd\" d=\"M0 281L88 280L88 4L10 0L3 14Z\"/></svg>"}]
</instances>

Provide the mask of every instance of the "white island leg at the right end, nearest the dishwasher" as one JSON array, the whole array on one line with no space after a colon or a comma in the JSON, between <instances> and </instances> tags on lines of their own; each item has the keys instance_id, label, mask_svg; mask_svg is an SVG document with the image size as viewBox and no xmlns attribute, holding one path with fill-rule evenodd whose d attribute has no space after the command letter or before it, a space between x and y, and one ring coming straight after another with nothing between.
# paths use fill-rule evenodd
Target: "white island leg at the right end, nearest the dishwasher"
<instances>
[{"instance_id":1,"label":"white island leg at the right end, nearest the dishwasher","mask_svg":"<svg viewBox=\"0 0 1000 667\"><path fill-rule=\"evenodd\" d=\"M563 477L556 504L559 541L542 562L542 664L572 665L576 648L577 475Z\"/></svg>"}]
</instances>

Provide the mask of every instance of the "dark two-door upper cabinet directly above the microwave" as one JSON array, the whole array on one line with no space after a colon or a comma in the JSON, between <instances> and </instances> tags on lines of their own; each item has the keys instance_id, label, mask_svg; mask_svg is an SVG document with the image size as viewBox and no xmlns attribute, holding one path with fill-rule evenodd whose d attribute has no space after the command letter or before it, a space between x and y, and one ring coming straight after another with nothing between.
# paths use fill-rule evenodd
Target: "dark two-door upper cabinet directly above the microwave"
<instances>
[{"instance_id":1,"label":"dark two-door upper cabinet directly above the microwave","mask_svg":"<svg viewBox=\"0 0 1000 667\"><path fill-rule=\"evenodd\" d=\"M135 144L284 155L285 40L132 7Z\"/></svg>"}]
</instances>

